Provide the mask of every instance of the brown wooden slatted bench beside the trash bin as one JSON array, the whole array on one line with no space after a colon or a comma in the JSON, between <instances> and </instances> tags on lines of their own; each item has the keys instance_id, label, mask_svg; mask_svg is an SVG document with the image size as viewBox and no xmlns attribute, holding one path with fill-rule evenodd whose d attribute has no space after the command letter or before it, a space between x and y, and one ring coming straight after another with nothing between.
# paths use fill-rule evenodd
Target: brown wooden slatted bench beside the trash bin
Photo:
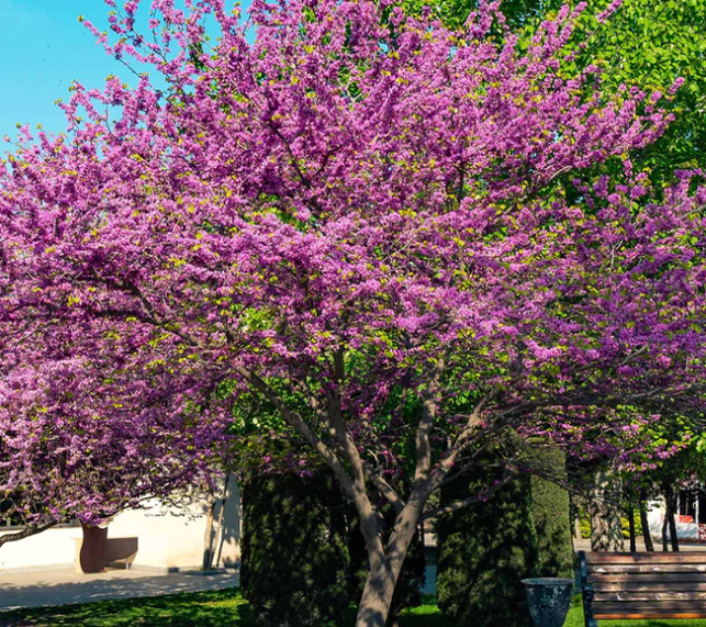
<instances>
[{"instance_id":1,"label":"brown wooden slatted bench beside the trash bin","mask_svg":"<svg viewBox=\"0 0 706 627\"><path fill-rule=\"evenodd\" d=\"M706 618L706 552L579 551L586 627L597 619Z\"/></svg>"}]
</instances>

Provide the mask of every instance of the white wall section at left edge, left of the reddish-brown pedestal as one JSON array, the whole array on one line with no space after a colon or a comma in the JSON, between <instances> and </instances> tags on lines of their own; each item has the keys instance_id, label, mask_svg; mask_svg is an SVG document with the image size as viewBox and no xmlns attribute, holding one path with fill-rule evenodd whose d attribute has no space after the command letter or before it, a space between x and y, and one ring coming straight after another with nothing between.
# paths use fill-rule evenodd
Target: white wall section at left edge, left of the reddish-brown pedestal
<instances>
[{"instance_id":1,"label":"white wall section at left edge, left of the reddish-brown pedestal","mask_svg":"<svg viewBox=\"0 0 706 627\"><path fill-rule=\"evenodd\" d=\"M0 531L0 536L12 531ZM47 529L0 547L0 570L41 570L42 568L72 568L76 561L76 538L80 527Z\"/></svg>"}]
</instances>

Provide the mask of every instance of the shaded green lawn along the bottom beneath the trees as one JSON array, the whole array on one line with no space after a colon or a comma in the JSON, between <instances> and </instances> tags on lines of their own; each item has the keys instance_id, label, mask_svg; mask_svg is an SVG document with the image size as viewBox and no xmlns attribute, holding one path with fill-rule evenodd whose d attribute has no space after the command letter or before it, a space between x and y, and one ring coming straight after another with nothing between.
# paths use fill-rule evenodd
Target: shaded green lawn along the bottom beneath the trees
<instances>
[{"instance_id":1,"label":"shaded green lawn along the bottom beneath the trees","mask_svg":"<svg viewBox=\"0 0 706 627\"><path fill-rule=\"evenodd\" d=\"M339 627L352 627L355 608ZM254 627L253 614L237 589L99 601L0 613L2 627ZM576 598L564 627L583 627ZM706 627L706 620L602 620L605 627ZM322 626L324 627L324 626ZM400 627L457 627L441 615L433 596L405 612Z\"/></svg>"}]
</instances>

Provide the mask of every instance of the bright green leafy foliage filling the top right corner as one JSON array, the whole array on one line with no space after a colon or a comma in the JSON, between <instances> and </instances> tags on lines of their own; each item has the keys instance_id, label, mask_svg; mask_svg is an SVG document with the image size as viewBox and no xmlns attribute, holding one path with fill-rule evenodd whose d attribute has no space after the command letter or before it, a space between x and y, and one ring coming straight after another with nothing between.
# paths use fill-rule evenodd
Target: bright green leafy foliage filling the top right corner
<instances>
[{"instance_id":1,"label":"bright green leafy foliage filling the top right corner","mask_svg":"<svg viewBox=\"0 0 706 627\"><path fill-rule=\"evenodd\" d=\"M605 24L595 15L606 2L592 2L582 29L594 31L584 63L603 66L604 88L621 85L666 92L684 79L671 103L674 115L666 133L640 154L636 168L648 168L654 184L675 169L706 166L706 0L626 0Z\"/></svg>"}]
</instances>

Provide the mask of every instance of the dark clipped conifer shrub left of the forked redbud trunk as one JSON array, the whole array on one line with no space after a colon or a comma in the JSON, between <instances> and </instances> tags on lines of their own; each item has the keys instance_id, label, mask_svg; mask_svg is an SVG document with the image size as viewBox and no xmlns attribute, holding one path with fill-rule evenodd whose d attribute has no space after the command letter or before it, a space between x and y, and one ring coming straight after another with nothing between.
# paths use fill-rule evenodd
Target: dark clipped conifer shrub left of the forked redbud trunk
<instances>
[{"instance_id":1,"label":"dark clipped conifer shrub left of the forked redbud trunk","mask_svg":"<svg viewBox=\"0 0 706 627\"><path fill-rule=\"evenodd\" d=\"M261 627L332 627L349 604L345 505L328 473L243 485L240 590Z\"/></svg>"}]
</instances>

